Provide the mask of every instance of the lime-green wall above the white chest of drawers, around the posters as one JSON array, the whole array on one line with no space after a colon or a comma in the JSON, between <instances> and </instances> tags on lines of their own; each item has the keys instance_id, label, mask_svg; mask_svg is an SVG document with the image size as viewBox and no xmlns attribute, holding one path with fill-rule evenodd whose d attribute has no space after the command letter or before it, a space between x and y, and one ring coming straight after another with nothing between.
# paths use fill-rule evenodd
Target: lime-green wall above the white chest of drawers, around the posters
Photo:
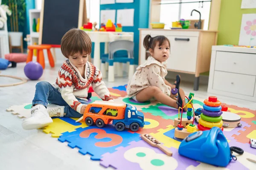
<instances>
[{"instance_id":1,"label":"lime-green wall above the white chest of drawers, around the posters","mask_svg":"<svg viewBox=\"0 0 256 170\"><path fill-rule=\"evenodd\" d=\"M218 45L238 45L243 14L255 14L256 8L241 9L242 0L221 0Z\"/></svg>"}]
</instances>

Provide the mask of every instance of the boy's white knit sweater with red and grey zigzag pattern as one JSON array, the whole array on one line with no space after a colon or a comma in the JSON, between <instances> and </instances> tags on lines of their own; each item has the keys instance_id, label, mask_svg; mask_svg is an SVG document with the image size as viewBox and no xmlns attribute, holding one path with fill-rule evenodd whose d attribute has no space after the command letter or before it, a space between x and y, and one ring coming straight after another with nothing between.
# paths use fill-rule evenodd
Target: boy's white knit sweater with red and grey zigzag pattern
<instances>
[{"instance_id":1,"label":"boy's white knit sweater with red and grey zigzag pattern","mask_svg":"<svg viewBox=\"0 0 256 170\"><path fill-rule=\"evenodd\" d=\"M92 63L85 65L84 77L81 76L78 69L68 59L63 63L58 71L58 77L53 86L61 93L62 98L71 108L81 113L83 104L77 100L87 101L89 86L92 85L93 91L102 100L113 100L110 92L102 81L102 74ZM76 98L77 97L77 98Z\"/></svg>"}]
</instances>

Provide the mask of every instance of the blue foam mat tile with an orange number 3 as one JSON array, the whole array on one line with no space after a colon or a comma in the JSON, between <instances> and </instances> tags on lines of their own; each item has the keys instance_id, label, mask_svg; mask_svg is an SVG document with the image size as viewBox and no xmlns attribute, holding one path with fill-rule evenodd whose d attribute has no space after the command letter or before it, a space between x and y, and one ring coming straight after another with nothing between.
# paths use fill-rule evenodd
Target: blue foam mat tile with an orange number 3
<instances>
[{"instance_id":1,"label":"blue foam mat tile with an orange number 3","mask_svg":"<svg viewBox=\"0 0 256 170\"><path fill-rule=\"evenodd\" d=\"M132 141L141 140L140 134L130 133L128 129L117 131L112 125L103 128L95 125L79 127L74 132L62 133L60 142L68 142L71 148L78 147L79 153L90 154L92 160L100 160L104 153L113 153L117 147L126 147Z\"/></svg>"}]
</instances>

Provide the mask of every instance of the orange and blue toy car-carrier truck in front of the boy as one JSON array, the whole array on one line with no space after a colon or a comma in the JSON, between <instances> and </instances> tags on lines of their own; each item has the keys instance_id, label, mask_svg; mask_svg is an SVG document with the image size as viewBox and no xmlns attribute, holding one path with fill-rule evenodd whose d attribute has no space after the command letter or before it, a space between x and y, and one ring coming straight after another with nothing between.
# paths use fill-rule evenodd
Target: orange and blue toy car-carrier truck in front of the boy
<instances>
[{"instance_id":1,"label":"orange and blue toy car-carrier truck in front of the boy","mask_svg":"<svg viewBox=\"0 0 256 170\"><path fill-rule=\"evenodd\" d=\"M96 110L98 112L93 113ZM110 110L114 111L115 114L108 114ZM136 132L145 125L143 113L137 111L137 108L134 106L99 100L87 105L83 120L86 125L92 126L95 123L97 127L104 127L113 120L112 125L118 131L122 131L126 127Z\"/></svg>"}]
</instances>

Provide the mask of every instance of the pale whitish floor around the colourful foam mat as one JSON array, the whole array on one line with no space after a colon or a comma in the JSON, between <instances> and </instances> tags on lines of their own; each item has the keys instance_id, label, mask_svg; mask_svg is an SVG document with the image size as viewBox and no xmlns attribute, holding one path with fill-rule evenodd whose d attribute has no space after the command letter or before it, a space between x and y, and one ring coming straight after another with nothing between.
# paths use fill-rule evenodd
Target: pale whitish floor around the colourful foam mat
<instances>
[{"instance_id":1,"label":"pale whitish floor around the colourful foam mat","mask_svg":"<svg viewBox=\"0 0 256 170\"><path fill-rule=\"evenodd\" d=\"M25 77L23 68L25 63L18 63L17 68L8 68L0 74ZM55 68L46 65L44 74L38 81L28 81L25 84L0 88L0 170L99 170L105 169L98 161L91 161L90 156L83 156L78 149L70 149L67 143L56 142L50 134L40 130L23 130L23 119L6 112L6 108L12 105L31 103L35 85L39 81L54 82L61 63ZM127 77L116 78L116 81L107 82L106 85L124 85L128 83ZM0 84L17 82L18 80L0 77ZM172 82L172 81L170 81ZM193 91L191 83L182 83L181 88L186 94L195 93L195 96L207 99L212 94L207 94L207 86L200 85L199 91ZM221 102L229 105L250 108L256 110L256 103L218 96ZM48 136L48 137L46 137ZM108 168L111 169L111 168Z\"/></svg>"}]
</instances>

